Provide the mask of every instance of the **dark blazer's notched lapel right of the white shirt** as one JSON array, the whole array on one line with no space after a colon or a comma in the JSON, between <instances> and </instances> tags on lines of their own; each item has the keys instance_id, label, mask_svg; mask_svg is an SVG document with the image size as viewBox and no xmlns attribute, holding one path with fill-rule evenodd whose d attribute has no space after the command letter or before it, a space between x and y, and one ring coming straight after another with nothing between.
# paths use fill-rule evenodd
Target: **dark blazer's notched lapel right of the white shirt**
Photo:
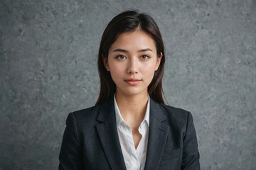
<instances>
[{"instance_id":1,"label":"dark blazer's notched lapel right of the white shirt","mask_svg":"<svg viewBox=\"0 0 256 170\"><path fill-rule=\"evenodd\" d=\"M158 103L150 99L149 142L145 169L158 169L164 153L169 126L162 123L166 116Z\"/></svg>"}]
</instances>

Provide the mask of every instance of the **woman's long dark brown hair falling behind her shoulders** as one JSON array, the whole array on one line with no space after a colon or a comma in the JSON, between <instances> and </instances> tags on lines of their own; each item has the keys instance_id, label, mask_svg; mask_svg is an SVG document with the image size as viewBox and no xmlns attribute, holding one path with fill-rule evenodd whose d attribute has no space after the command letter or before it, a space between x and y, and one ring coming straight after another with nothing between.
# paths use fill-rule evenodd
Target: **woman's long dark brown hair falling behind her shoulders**
<instances>
[{"instance_id":1,"label":"woman's long dark brown hair falling behind her shoulders","mask_svg":"<svg viewBox=\"0 0 256 170\"><path fill-rule=\"evenodd\" d=\"M98 53L98 71L100 76L100 95L97 98L97 104L107 101L112 97L116 91L116 85L111 78L110 72L104 66L103 60L107 60L110 46L117 40L119 34L124 32L131 32L134 30L143 30L151 35L156 45L157 57L162 58L159 68L154 73L154 77L149 84L149 96L157 103L164 103L164 92L162 89L162 79L164 76L164 42L161 38L161 33L151 16L146 13L138 13L137 11L124 11L115 16L105 29L102 40L100 42L100 49Z\"/></svg>"}]
</instances>

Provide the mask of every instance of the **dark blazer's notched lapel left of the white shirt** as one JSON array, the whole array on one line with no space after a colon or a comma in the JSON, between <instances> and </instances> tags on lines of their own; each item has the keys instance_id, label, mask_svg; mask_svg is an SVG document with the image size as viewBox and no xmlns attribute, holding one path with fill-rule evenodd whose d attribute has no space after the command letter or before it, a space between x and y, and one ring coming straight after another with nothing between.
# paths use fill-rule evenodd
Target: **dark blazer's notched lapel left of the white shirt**
<instances>
[{"instance_id":1,"label":"dark blazer's notched lapel left of the white shirt","mask_svg":"<svg viewBox=\"0 0 256 170\"><path fill-rule=\"evenodd\" d=\"M111 169L126 169L119 144L113 98L102 103L97 120L102 122L96 125L96 129Z\"/></svg>"}]
</instances>

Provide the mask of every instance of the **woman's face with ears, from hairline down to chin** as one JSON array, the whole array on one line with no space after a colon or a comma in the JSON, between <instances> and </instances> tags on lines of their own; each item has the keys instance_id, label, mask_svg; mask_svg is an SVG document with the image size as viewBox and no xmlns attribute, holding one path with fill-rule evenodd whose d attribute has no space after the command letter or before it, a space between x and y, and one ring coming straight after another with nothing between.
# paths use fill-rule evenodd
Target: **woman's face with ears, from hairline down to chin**
<instances>
[{"instance_id":1,"label":"woman's face with ears, from hairline down to chin","mask_svg":"<svg viewBox=\"0 0 256 170\"><path fill-rule=\"evenodd\" d=\"M156 55L154 40L146 32L135 30L118 36L104 62L117 86L117 94L147 94L158 69L161 56Z\"/></svg>"}]
</instances>

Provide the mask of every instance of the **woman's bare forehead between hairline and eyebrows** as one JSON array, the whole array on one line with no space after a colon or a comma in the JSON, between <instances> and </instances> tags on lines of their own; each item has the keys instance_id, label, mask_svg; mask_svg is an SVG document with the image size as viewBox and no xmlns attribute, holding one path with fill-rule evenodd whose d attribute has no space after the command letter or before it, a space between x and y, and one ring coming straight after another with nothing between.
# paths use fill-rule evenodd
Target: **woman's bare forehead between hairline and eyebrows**
<instances>
[{"instance_id":1,"label":"woman's bare forehead between hairline and eyebrows","mask_svg":"<svg viewBox=\"0 0 256 170\"><path fill-rule=\"evenodd\" d=\"M110 46L110 52L116 48L122 48L128 51L150 48L152 51L156 51L154 39L143 30L121 33L117 37L117 40Z\"/></svg>"}]
</instances>

